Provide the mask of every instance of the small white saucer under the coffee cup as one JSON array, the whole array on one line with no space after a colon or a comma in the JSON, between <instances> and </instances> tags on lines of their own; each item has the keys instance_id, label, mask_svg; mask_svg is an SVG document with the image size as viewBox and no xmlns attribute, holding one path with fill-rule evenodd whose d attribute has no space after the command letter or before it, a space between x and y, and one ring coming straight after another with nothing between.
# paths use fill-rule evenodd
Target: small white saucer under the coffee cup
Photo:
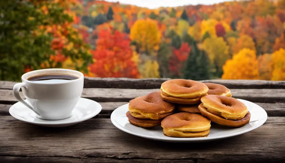
<instances>
[{"instance_id":1,"label":"small white saucer under the coffee cup","mask_svg":"<svg viewBox=\"0 0 285 163\"><path fill-rule=\"evenodd\" d=\"M28 109L20 102L15 103L9 109L9 113L16 119L31 123L34 125L46 126L46 127L66 127L75 125L82 121L86 121L99 114L102 107L99 103L86 98L80 98L72 111L72 116L62 120L44 120L36 117L36 113Z\"/></svg>"}]
</instances>

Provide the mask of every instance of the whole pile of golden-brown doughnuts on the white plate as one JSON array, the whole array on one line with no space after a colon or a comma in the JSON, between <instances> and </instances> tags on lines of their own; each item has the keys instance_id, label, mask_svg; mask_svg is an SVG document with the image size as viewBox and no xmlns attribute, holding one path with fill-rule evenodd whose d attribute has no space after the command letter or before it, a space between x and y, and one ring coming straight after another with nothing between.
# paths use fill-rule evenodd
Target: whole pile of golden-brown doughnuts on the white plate
<instances>
[{"instance_id":1,"label":"whole pile of golden-brown doughnuts on the white plate","mask_svg":"<svg viewBox=\"0 0 285 163\"><path fill-rule=\"evenodd\" d=\"M211 121L231 127L249 122L247 107L231 96L221 84L173 79L162 83L160 91L131 100L126 115L139 127L161 125L165 136L205 137Z\"/></svg>"}]
</instances>

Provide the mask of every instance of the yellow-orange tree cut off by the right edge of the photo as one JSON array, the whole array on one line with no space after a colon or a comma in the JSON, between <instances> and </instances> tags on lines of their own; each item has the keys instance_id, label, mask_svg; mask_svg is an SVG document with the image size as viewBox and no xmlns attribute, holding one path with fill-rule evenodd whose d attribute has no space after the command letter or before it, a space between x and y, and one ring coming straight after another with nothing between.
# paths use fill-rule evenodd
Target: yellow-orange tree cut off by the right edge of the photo
<instances>
[{"instance_id":1,"label":"yellow-orange tree cut off by the right edge of the photo","mask_svg":"<svg viewBox=\"0 0 285 163\"><path fill-rule=\"evenodd\" d=\"M271 54L273 72L271 80L285 80L285 49L280 48Z\"/></svg>"}]
</instances>

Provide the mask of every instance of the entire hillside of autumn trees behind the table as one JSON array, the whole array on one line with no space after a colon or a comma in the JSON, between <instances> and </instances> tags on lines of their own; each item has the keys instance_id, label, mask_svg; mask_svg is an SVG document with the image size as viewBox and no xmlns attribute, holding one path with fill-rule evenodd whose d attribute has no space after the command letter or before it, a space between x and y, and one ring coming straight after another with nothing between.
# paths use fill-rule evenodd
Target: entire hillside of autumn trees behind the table
<instances>
[{"instance_id":1,"label":"entire hillside of autumn trees behind the table","mask_svg":"<svg viewBox=\"0 0 285 163\"><path fill-rule=\"evenodd\" d=\"M2 80L41 68L91 77L284 80L284 0L157 9L90 0L3 4Z\"/></svg>"}]
</instances>

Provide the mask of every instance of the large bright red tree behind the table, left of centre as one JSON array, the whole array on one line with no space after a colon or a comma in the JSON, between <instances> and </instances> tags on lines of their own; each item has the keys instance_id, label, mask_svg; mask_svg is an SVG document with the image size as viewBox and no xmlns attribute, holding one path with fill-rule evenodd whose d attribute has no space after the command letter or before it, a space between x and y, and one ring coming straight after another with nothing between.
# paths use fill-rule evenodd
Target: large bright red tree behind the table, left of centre
<instances>
[{"instance_id":1,"label":"large bright red tree behind the table, left of centre","mask_svg":"<svg viewBox=\"0 0 285 163\"><path fill-rule=\"evenodd\" d=\"M130 40L117 30L101 30L96 50L92 51L94 63L90 72L95 77L139 78L137 66L132 60Z\"/></svg>"}]
</instances>

